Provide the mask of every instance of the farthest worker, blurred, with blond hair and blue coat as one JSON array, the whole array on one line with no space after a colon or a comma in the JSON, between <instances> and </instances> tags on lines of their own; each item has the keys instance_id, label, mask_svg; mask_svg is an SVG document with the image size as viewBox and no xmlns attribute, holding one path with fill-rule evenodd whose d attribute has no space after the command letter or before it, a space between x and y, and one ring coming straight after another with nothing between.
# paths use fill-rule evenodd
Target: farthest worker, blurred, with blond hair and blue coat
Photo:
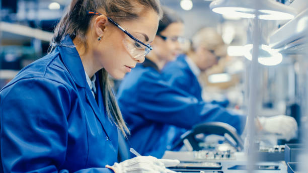
<instances>
[{"instance_id":1,"label":"farthest worker, blurred, with blond hair and blue coat","mask_svg":"<svg viewBox=\"0 0 308 173\"><path fill-rule=\"evenodd\" d=\"M187 55L181 54L175 61L168 62L162 69L162 74L168 84L202 99L202 87L198 80L201 72L218 63L225 55L225 44L221 36L213 28L203 28L192 39ZM218 53L218 54L217 54ZM228 102L212 101L226 107Z\"/></svg>"}]
</instances>

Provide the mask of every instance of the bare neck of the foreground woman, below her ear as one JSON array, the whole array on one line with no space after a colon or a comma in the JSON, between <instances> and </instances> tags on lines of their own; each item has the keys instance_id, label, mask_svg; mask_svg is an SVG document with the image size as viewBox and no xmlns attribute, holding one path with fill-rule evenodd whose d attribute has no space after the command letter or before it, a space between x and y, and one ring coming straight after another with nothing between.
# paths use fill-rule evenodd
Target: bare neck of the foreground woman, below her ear
<instances>
[{"instance_id":1,"label":"bare neck of the foreground woman, below her ear","mask_svg":"<svg viewBox=\"0 0 308 173\"><path fill-rule=\"evenodd\" d=\"M95 59L93 58L93 51L91 50L91 46L88 46L88 50L86 51L85 46L81 44L78 38L73 40L75 48L82 60L83 66L85 71L87 72L88 76L92 78L92 76L101 69L97 64Z\"/></svg>"}]
</instances>

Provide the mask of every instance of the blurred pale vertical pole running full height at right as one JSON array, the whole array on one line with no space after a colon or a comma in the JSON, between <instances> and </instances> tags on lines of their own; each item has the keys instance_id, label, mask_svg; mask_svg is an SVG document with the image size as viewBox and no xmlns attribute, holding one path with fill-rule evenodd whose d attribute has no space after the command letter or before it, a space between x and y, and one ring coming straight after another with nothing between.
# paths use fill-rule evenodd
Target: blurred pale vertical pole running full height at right
<instances>
[{"instance_id":1,"label":"blurred pale vertical pole running full height at right","mask_svg":"<svg viewBox=\"0 0 308 173\"><path fill-rule=\"evenodd\" d=\"M257 96L258 96L258 57L259 57L259 19L258 19L258 1L255 1L255 18L253 19L253 50L249 82L249 107L248 107L248 172L254 171L254 165L258 161L254 147L254 139L256 133L255 118L257 117Z\"/></svg>"}]
</instances>

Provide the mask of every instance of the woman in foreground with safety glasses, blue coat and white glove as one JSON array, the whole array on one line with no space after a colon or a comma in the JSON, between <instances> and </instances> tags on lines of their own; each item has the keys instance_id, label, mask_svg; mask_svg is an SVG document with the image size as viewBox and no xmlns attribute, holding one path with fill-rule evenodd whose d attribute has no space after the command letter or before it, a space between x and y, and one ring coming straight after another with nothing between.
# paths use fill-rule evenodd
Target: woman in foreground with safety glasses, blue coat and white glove
<instances>
[{"instance_id":1,"label":"woman in foreground with safety glasses, blue coat and white glove","mask_svg":"<svg viewBox=\"0 0 308 173\"><path fill-rule=\"evenodd\" d=\"M156 0L73 0L51 53L0 91L0 172L173 172L178 160L117 163L129 130L108 82L144 61L161 16Z\"/></svg>"}]
</instances>

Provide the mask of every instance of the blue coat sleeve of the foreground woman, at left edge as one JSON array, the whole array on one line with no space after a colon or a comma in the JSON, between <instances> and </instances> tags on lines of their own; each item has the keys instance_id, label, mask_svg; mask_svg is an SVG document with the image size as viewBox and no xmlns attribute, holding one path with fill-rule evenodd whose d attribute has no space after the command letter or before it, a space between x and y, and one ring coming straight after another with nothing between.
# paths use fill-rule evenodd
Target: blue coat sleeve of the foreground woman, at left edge
<instances>
[{"instance_id":1,"label":"blue coat sleeve of the foreground woman, at left edge","mask_svg":"<svg viewBox=\"0 0 308 173\"><path fill-rule=\"evenodd\" d=\"M21 79L2 90L3 172L68 172L59 167L65 161L67 148L70 94L63 84L42 77ZM79 172L98 170L112 172L107 168Z\"/></svg>"}]
</instances>

